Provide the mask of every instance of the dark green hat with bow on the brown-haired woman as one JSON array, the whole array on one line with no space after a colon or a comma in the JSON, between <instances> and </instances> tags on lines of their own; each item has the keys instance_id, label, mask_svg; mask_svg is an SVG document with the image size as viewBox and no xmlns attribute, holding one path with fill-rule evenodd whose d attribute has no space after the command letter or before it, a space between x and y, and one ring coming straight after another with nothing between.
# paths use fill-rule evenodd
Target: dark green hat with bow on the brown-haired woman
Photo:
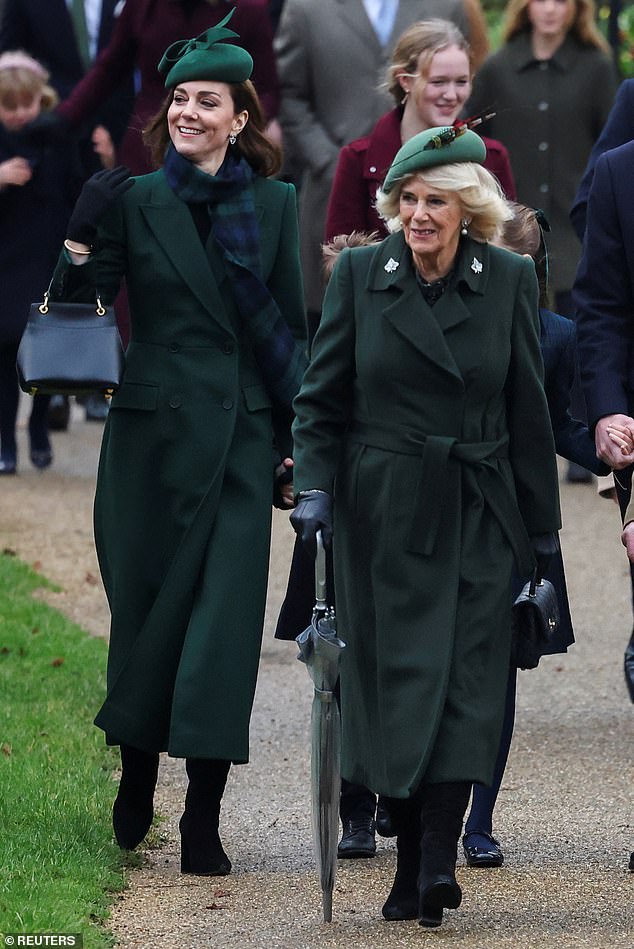
<instances>
[{"instance_id":1,"label":"dark green hat with bow on the brown-haired woman","mask_svg":"<svg viewBox=\"0 0 634 949\"><path fill-rule=\"evenodd\" d=\"M165 76L165 88L173 89L180 82L215 79L218 82L244 82L253 72L253 60L246 49L224 40L237 37L225 28L233 16L227 16L216 26L191 40L177 40L163 53L158 70Z\"/></svg>"}]
</instances>

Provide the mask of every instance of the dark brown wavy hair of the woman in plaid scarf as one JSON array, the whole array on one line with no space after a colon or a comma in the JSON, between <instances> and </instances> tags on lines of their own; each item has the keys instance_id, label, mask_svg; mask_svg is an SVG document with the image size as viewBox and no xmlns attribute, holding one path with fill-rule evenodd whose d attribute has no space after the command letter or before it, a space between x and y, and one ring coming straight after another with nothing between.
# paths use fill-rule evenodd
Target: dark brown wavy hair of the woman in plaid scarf
<instances>
[{"instance_id":1,"label":"dark brown wavy hair of the woman in plaid scarf","mask_svg":"<svg viewBox=\"0 0 634 949\"><path fill-rule=\"evenodd\" d=\"M271 178L282 167L282 151L264 134L266 128L264 110L255 91L255 86L250 79L245 80L245 82L227 83L227 85L233 102L234 114L237 115L238 112L243 110L249 113L247 123L231 149L236 154L246 158L256 174L262 175L264 178ZM152 164L155 168L160 168L163 164L167 146L171 141L167 126L167 113L173 97L174 93L171 91L159 111L143 129L143 142L150 149Z\"/></svg>"}]
</instances>

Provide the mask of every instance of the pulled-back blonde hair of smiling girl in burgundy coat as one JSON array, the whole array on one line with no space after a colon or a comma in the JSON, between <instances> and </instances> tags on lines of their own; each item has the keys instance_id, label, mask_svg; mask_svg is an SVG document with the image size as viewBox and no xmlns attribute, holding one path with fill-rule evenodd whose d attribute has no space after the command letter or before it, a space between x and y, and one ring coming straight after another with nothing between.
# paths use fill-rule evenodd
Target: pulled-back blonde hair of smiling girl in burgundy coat
<instances>
[{"instance_id":1,"label":"pulled-back blonde hair of smiling girl in burgundy coat","mask_svg":"<svg viewBox=\"0 0 634 949\"><path fill-rule=\"evenodd\" d=\"M469 59L471 74L473 71L471 48L455 23L440 18L418 20L401 33L394 47L392 61L388 66L385 79L385 88L397 105L401 104L405 95L399 77L419 72L425 79L436 53L441 49L447 49L448 46L457 46L464 50Z\"/></svg>"}]
</instances>

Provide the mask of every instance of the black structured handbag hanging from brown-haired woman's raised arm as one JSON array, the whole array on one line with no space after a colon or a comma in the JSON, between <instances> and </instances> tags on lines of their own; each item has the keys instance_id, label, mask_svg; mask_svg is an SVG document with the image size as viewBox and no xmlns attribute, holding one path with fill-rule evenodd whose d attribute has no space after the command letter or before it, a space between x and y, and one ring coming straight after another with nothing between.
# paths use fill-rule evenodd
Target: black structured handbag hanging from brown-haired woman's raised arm
<instances>
[{"instance_id":1,"label":"black structured handbag hanging from brown-haired woman's raised arm","mask_svg":"<svg viewBox=\"0 0 634 949\"><path fill-rule=\"evenodd\" d=\"M20 388L30 395L111 395L123 372L123 347L112 307L32 303L17 358Z\"/></svg>"}]
</instances>

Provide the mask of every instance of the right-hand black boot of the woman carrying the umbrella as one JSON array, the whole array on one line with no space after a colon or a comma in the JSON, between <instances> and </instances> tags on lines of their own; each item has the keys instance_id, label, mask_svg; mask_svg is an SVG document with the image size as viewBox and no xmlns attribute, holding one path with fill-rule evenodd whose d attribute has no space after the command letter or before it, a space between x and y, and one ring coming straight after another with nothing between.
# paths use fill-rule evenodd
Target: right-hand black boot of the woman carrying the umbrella
<instances>
[{"instance_id":1,"label":"right-hand black boot of the woman carrying the umbrella","mask_svg":"<svg viewBox=\"0 0 634 949\"><path fill-rule=\"evenodd\" d=\"M440 926L444 909L457 909L462 890L456 880L458 841L471 785L464 781L421 787L421 854L418 921Z\"/></svg>"}]
</instances>

